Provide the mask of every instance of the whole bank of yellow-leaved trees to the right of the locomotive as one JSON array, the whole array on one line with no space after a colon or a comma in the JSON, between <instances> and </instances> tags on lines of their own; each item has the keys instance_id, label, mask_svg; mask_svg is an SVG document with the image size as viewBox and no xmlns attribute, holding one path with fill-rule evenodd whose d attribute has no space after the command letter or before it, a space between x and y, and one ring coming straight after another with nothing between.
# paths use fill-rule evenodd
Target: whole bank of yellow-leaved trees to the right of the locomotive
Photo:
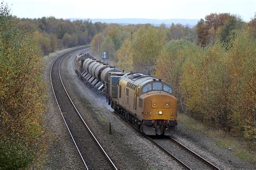
<instances>
[{"instance_id":1,"label":"whole bank of yellow-leaved trees to the right of the locomotive","mask_svg":"<svg viewBox=\"0 0 256 170\"><path fill-rule=\"evenodd\" d=\"M229 51L218 43L201 50L172 41L155 68L193 115L253 139L255 122L245 121L253 119L256 92L256 41L249 35L237 34Z\"/></svg>"}]
</instances>

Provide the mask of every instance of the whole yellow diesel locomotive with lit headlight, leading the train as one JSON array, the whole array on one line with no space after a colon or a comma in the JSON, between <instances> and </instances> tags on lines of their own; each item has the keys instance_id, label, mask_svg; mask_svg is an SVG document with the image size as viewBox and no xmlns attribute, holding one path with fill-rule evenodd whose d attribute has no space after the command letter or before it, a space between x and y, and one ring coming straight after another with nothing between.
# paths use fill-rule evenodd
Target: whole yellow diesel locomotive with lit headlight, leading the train
<instances>
[{"instance_id":1,"label":"whole yellow diesel locomotive with lit headlight, leading the train","mask_svg":"<svg viewBox=\"0 0 256 170\"><path fill-rule=\"evenodd\" d=\"M167 82L128 73L120 78L118 91L120 115L145 134L170 136L176 131L177 98Z\"/></svg>"}]
</instances>

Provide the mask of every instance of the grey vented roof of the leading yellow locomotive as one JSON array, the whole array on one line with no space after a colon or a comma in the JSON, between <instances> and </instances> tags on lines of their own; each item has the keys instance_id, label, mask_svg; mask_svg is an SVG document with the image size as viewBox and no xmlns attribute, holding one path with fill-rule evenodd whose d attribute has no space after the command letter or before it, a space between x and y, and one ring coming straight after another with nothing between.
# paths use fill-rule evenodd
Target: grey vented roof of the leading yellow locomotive
<instances>
[{"instance_id":1,"label":"grey vented roof of the leading yellow locomotive","mask_svg":"<svg viewBox=\"0 0 256 170\"><path fill-rule=\"evenodd\" d=\"M147 82L157 80L156 77L152 77L150 75L145 75L142 73L127 73L124 76L122 76L121 79L133 83L136 86L143 86Z\"/></svg>"}]
</instances>

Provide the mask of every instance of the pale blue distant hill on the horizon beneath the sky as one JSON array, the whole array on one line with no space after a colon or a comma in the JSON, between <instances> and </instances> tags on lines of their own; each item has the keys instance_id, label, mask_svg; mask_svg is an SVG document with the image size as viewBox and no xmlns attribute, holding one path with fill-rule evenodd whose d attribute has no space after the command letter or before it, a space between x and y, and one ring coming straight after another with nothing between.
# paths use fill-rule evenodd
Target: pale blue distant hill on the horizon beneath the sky
<instances>
[{"instance_id":1,"label":"pale blue distant hill on the horizon beneath the sky","mask_svg":"<svg viewBox=\"0 0 256 170\"><path fill-rule=\"evenodd\" d=\"M73 20L87 20L85 18L71 18ZM143 18L122 18L122 19L90 19L92 23L102 22L102 23L115 23L120 25L130 25L130 24L152 24L154 26L159 26L164 23L166 26L170 27L172 23L188 25L193 27L197 25L199 19L143 19Z\"/></svg>"}]
</instances>

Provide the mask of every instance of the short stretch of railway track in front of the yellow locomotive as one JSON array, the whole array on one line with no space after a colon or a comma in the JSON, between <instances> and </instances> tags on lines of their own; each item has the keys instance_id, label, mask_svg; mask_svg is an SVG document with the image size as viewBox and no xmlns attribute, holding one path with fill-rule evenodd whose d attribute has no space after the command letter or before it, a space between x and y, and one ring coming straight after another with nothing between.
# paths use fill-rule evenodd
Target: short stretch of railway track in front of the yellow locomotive
<instances>
[{"instance_id":1,"label":"short stretch of railway track in front of the yellow locomotive","mask_svg":"<svg viewBox=\"0 0 256 170\"><path fill-rule=\"evenodd\" d=\"M171 137L149 139L187 169L220 169Z\"/></svg>"}]
</instances>

